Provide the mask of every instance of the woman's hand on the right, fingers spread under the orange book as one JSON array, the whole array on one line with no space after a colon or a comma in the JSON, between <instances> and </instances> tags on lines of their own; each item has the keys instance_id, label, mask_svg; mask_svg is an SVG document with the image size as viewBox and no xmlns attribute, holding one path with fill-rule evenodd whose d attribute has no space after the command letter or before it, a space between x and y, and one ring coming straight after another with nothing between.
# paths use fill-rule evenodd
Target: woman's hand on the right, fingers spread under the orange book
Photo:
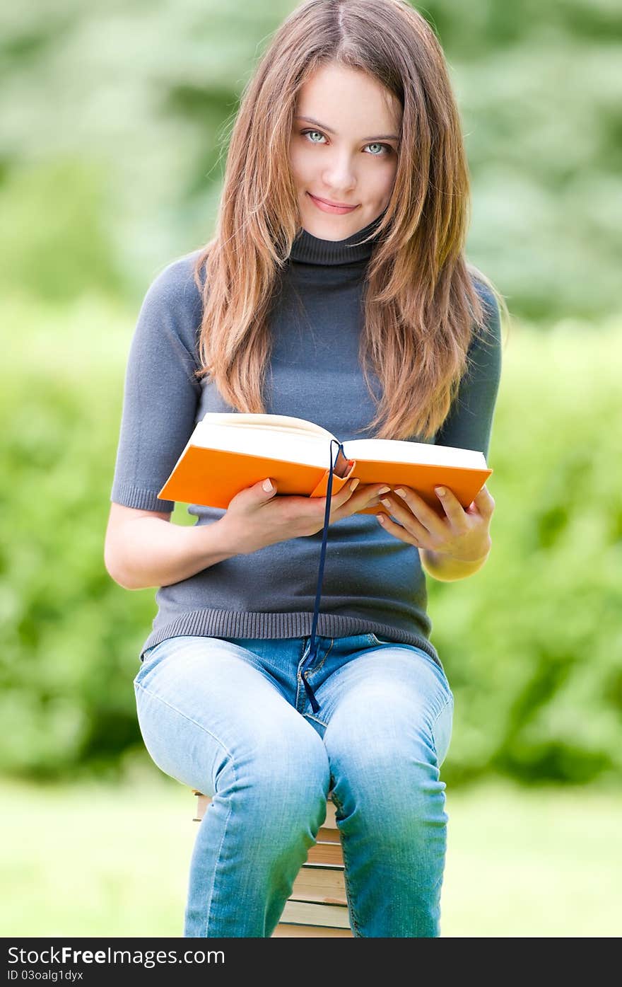
<instances>
[{"instance_id":1,"label":"woman's hand on the right, fingers spread under the orange book","mask_svg":"<svg viewBox=\"0 0 622 987\"><path fill-rule=\"evenodd\" d=\"M403 497L397 495L397 490L403 491ZM445 510L444 518L439 517L418 493L400 487L380 499L399 523L379 514L379 518L383 517L382 527L408 545L437 555L448 555L459 562L477 562L484 558L492 545L490 519L495 509L495 501L486 487L482 487L466 510L447 487L435 490ZM439 494L441 490L446 491L444 496Z\"/></svg>"}]
</instances>

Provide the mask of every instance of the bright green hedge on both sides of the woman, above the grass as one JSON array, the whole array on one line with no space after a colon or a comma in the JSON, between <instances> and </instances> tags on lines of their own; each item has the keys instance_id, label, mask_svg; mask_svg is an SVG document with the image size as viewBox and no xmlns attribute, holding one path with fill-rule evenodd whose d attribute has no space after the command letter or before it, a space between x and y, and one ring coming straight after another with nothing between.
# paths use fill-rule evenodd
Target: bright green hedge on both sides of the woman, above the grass
<instances>
[{"instance_id":1,"label":"bright green hedge on both sides of the woman, above the grass","mask_svg":"<svg viewBox=\"0 0 622 987\"><path fill-rule=\"evenodd\" d=\"M156 612L155 590L104 569L132 320L98 297L2 315L0 770L113 778L142 751L132 678ZM622 768L621 360L616 327L511 335L491 557L468 579L429 579L455 697L449 784L606 782ZM173 521L194 518L178 504Z\"/></svg>"}]
</instances>

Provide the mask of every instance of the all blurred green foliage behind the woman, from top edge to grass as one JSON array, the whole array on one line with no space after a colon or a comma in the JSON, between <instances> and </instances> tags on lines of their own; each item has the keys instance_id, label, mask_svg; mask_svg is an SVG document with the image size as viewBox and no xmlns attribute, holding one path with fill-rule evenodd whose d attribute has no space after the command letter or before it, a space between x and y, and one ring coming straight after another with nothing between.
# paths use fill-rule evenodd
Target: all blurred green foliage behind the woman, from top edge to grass
<instances>
[{"instance_id":1,"label":"all blurred green foliage behind the woman, from top edge to grass","mask_svg":"<svg viewBox=\"0 0 622 987\"><path fill-rule=\"evenodd\" d=\"M147 758L131 680L155 615L104 569L127 349L150 280L211 236L228 128L294 3L35 2L0 14L0 770ZM515 324L484 569L429 580L455 696L444 766L607 784L622 767L622 9L419 8L472 177L468 256ZM176 523L192 523L177 505Z\"/></svg>"}]
</instances>

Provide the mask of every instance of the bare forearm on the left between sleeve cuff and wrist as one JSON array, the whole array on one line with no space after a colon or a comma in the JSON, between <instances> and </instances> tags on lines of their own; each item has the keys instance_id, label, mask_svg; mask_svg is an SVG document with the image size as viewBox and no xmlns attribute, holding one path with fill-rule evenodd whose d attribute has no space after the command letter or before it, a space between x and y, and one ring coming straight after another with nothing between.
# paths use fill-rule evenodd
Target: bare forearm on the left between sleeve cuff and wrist
<instances>
[{"instance_id":1,"label":"bare forearm on the left between sleeve cuff and wrist","mask_svg":"<svg viewBox=\"0 0 622 987\"><path fill-rule=\"evenodd\" d=\"M238 555L219 521L194 527L160 517L139 517L122 529L122 550L106 568L124 589L169 586Z\"/></svg>"}]
</instances>

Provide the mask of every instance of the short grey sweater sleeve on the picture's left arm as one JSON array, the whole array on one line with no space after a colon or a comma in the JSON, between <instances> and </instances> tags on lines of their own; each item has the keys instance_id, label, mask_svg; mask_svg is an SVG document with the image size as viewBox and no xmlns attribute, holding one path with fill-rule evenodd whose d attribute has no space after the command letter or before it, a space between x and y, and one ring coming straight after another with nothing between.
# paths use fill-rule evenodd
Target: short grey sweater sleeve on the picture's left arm
<instances>
[{"instance_id":1,"label":"short grey sweater sleeve on the picture's left arm","mask_svg":"<svg viewBox=\"0 0 622 987\"><path fill-rule=\"evenodd\" d=\"M129 347L110 500L173 511L162 490L194 428L201 384L196 343L202 299L195 254L174 261L150 285Z\"/></svg>"}]
</instances>

